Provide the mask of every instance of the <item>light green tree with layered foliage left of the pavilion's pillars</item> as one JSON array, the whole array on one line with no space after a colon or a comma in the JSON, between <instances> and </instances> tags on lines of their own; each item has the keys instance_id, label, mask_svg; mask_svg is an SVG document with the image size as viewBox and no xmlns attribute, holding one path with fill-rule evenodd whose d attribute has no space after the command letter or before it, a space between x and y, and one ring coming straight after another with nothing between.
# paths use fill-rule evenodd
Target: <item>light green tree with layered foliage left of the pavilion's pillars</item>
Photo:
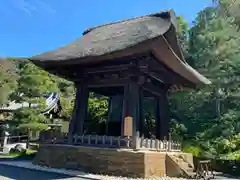
<instances>
[{"instance_id":1,"label":"light green tree with layered foliage left of the pavilion's pillars","mask_svg":"<svg viewBox=\"0 0 240 180\"><path fill-rule=\"evenodd\" d=\"M18 128L23 130L45 129L47 119L41 114L45 108L43 95L57 92L57 83L52 75L30 62L22 64L19 74L19 86L15 97L18 101L28 102L29 107L17 110L14 120L17 121Z\"/></svg>"}]
</instances>

